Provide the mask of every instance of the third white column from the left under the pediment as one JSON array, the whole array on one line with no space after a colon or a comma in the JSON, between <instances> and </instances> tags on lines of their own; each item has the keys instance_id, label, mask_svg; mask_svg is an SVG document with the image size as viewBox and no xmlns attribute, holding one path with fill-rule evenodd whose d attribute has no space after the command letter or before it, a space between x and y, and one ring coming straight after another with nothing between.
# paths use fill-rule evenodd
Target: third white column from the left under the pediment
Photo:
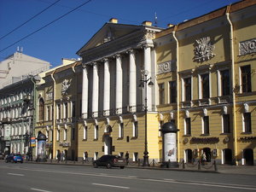
<instances>
[{"instance_id":1,"label":"third white column from the left under the pediment","mask_svg":"<svg viewBox=\"0 0 256 192\"><path fill-rule=\"evenodd\" d=\"M104 115L109 115L110 109L110 73L108 59L104 59L104 95L103 95L103 111Z\"/></svg>"}]
</instances>

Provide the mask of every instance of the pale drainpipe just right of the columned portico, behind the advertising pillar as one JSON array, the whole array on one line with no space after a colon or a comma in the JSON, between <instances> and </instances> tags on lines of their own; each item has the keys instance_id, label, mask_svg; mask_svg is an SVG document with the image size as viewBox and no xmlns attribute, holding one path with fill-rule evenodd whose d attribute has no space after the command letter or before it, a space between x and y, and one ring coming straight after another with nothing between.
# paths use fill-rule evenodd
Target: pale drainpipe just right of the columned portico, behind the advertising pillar
<instances>
[{"instance_id":1,"label":"pale drainpipe just right of the columned portico, behind the advertising pillar","mask_svg":"<svg viewBox=\"0 0 256 192\"><path fill-rule=\"evenodd\" d=\"M178 25L177 25L178 26ZM179 129L180 125L179 125L179 58L178 58L178 40L176 37L176 31L177 31L177 26L174 26L174 30L172 32L172 36L176 41L176 77L177 77L177 129ZM179 151L179 131L177 131L177 162L179 162L180 160L180 151Z\"/></svg>"}]
</instances>

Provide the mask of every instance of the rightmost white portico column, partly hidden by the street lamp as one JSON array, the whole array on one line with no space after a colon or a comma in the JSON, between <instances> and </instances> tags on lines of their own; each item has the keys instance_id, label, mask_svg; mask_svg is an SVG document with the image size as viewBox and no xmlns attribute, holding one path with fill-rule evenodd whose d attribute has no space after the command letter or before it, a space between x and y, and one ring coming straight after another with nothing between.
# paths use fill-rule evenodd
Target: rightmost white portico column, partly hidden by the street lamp
<instances>
[{"instance_id":1,"label":"rightmost white portico column, partly hidden by the street lamp","mask_svg":"<svg viewBox=\"0 0 256 192\"><path fill-rule=\"evenodd\" d=\"M148 71L148 78L152 77L151 73L151 47L147 44L144 46L144 70ZM147 91L147 98L148 98L148 110L152 110L152 96L151 96L151 89L148 88Z\"/></svg>"}]
</instances>

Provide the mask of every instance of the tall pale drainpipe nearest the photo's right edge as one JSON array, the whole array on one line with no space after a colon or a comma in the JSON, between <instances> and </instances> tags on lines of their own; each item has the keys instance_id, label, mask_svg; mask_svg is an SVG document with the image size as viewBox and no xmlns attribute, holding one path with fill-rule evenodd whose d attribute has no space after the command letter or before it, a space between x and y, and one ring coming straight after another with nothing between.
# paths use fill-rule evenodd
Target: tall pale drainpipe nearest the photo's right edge
<instances>
[{"instance_id":1,"label":"tall pale drainpipe nearest the photo's right edge","mask_svg":"<svg viewBox=\"0 0 256 192\"><path fill-rule=\"evenodd\" d=\"M238 165L237 160L237 133L236 133L236 93L235 93L235 61L234 61L234 34L233 34L233 25L230 20L230 5L227 7L226 16L227 20L230 23L230 49L231 49L231 73L232 73L232 96L233 96L233 131L234 131L234 152L235 152L235 160L236 166Z\"/></svg>"}]
</instances>

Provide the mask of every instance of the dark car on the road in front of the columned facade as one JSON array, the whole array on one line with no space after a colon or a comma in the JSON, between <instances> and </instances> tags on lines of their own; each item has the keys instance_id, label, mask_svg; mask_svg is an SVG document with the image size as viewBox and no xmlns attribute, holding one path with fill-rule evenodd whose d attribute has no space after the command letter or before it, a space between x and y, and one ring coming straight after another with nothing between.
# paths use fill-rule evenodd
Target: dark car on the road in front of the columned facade
<instances>
[{"instance_id":1,"label":"dark car on the road in front of the columned facade","mask_svg":"<svg viewBox=\"0 0 256 192\"><path fill-rule=\"evenodd\" d=\"M108 169L111 167L120 167L121 169L124 169L125 165L125 159L119 155L105 154L100 159L93 161L94 167L107 166Z\"/></svg>"}]
</instances>

